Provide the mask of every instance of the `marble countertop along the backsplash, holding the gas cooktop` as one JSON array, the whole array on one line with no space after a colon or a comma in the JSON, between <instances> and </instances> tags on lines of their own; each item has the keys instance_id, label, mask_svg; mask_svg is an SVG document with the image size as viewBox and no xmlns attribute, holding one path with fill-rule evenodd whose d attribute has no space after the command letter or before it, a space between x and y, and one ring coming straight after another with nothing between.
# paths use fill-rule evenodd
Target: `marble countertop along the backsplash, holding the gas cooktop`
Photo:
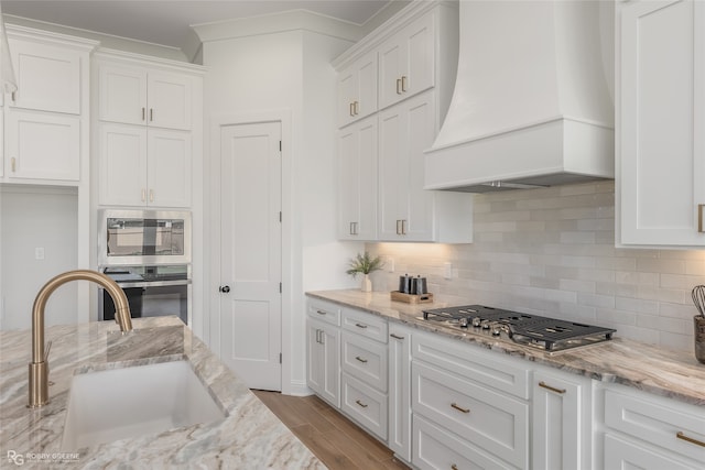
<instances>
[{"instance_id":1,"label":"marble countertop along the backsplash, holding the gas cooktop","mask_svg":"<svg viewBox=\"0 0 705 470\"><path fill-rule=\"evenodd\" d=\"M544 352L531 347L500 341L487 336L460 332L419 319L423 309L448 306L392 302L389 293L357 289L307 292L306 295L401 321L448 338L585 375L601 382L619 383L684 403L705 406L705 364L688 353L668 351L638 341L616 337L603 343L561 352ZM467 304L471 304L468 302ZM457 305L457 304L456 304Z\"/></svg>"}]
</instances>

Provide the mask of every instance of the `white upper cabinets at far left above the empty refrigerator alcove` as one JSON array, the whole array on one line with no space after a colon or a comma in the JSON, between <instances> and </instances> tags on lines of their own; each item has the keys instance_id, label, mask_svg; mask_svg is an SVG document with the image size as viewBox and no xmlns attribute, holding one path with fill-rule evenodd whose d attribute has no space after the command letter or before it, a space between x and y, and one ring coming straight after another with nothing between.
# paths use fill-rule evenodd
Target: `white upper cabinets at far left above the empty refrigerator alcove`
<instances>
[{"instance_id":1,"label":"white upper cabinets at far left above the empty refrigerator alcove","mask_svg":"<svg viewBox=\"0 0 705 470\"><path fill-rule=\"evenodd\" d=\"M97 43L18 25L8 25L8 41L18 90L1 109L0 182L78 186L88 166L88 62Z\"/></svg>"}]
</instances>

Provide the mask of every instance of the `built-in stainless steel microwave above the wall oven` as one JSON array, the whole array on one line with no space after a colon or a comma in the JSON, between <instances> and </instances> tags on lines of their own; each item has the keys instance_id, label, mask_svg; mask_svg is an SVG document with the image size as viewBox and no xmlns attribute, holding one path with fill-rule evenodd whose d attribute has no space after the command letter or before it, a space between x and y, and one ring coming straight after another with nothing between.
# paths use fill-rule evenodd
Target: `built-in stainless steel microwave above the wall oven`
<instances>
[{"instance_id":1,"label":"built-in stainless steel microwave above the wall oven","mask_svg":"<svg viewBox=\"0 0 705 470\"><path fill-rule=\"evenodd\" d=\"M100 266L191 263L191 212L102 209L99 217Z\"/></svg>"}]
</instances>

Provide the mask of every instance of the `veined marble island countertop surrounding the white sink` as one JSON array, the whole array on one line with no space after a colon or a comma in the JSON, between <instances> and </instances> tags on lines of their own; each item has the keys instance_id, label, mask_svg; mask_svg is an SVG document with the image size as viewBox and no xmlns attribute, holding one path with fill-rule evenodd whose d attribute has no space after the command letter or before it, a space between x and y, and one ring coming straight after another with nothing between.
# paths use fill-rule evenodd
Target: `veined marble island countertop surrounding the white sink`
<instances>
[{"instance_id":1,"label":"veined marble island countertop surrounding the white sink","mask_svg":"<svg viewBox=\"0 0 705 470\"><path fill-rule=\"evenodd\" d=\"M0 332L0 467L12 468L8 458L17 457L21 468L325 468L177 317L132 323L127 335L112 321L48 327L51 402L35 409L26 407L31 331ZM74 374L174 360L189 362L225 411L224 419L62 448Z\"/></svg>"}]
</instances>

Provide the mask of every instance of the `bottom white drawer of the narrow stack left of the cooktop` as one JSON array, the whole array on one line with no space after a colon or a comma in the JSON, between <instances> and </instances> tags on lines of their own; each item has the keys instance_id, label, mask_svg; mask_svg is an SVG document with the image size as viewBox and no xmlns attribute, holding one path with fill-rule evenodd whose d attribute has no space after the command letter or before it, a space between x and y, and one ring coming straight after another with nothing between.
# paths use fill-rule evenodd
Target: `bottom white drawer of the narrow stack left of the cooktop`
<instances>
[{"instance_id":1,"label":"bottom white drawer of the narrow stack left of the cooktop","mask_svg":"<svg viewBox=\"0 0 705 470\"><path fill-rule=\"evenodd\" d=\"M340 409L382 440L387 440L387 395L343 373Z\"/></svg>"}]
</instances>

